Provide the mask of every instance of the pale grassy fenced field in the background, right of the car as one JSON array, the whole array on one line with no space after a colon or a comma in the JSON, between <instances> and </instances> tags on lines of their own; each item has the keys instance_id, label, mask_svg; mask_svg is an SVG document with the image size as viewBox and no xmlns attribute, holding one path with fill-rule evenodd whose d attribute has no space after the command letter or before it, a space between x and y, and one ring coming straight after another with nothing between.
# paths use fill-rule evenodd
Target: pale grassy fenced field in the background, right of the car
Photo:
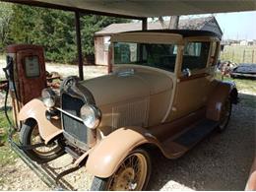
<instances>
[{"instance_id":1,"label":"pale grassy fenced field in the background, right of the car","mask_svg":"<svg viewBox=\"0 0 256 192\"><path fill-rule=\"evenodd\" d=\"M235 63L256 63L256 46L226 45L221 60Z\"/></svg>"}]
</instances>

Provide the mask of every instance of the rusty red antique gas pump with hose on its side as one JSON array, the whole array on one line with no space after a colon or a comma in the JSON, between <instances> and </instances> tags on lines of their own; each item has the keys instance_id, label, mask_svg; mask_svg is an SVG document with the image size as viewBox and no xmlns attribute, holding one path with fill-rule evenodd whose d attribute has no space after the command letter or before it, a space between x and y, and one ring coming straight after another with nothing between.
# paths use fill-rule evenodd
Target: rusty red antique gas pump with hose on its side
<instances>
[{"instance_id":1,"label":"rusty red antique gas pump with hose on its side","mask_svg":"<svg viewBox=\"0 0 256 192\"><path fill-rule=\"evenodd\" d=\"M7 66L4 68L12 97L13 117L16 127L22 106L38 97L46 87L43 48L31 44L14 44L7 47Z\"/></svg>"}]
</instances>

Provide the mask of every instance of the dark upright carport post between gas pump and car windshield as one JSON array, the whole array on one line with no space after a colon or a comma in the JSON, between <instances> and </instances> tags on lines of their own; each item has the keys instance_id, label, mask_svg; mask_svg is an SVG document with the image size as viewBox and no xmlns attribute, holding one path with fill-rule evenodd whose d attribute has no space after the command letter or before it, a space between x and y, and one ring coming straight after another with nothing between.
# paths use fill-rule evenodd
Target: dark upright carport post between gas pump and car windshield
<instances>
[{"instance_id":1,"label":"dark upright carport post between gas pump and car windshield","mask_svg":"<svg viewBox=\"0 0 256 192\"><path fill-rule=\"evenodd\" d=\"M82 54L82 45L81 45L80 13L78 11L75 12L75 18L76 18L79 78L80 78L80 80L84 80L83 54Z\"/></svg>"}]
</instances>

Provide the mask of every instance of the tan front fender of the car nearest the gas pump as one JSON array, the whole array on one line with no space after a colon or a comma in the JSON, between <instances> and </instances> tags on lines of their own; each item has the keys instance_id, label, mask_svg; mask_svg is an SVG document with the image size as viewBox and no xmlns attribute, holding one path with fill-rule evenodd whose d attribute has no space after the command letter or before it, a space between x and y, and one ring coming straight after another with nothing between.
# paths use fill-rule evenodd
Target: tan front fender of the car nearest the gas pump
<instances>
[{"instance_id":1,"label":"tan front fender of the car nearest the gas pump","mask_svg":"<svg viewBox=\"0 0 256 192\"><path fill-rule=\"evenodd\" d=\"M62 133L59 119L47 120L45 116L46 107L38 98L32 99L22 107L19 112L18 119L25 121L29 118L37 122L38 130L41 138L47 144L51 139Z\"/></svg>"}]
</instances>

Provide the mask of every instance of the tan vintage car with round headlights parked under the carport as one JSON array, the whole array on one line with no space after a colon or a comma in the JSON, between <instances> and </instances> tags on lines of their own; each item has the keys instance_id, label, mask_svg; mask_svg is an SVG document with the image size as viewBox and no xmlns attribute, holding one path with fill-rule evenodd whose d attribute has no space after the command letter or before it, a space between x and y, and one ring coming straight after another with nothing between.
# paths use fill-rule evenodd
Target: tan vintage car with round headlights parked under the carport
<instances>
[{"instance_id":1,"label":"tan vintage car with round headlights parked under the carport","mask_svg":"<svg viewBox=\"0 0 256 192\"><path fill-rule=\"evenodd\" d=\"M150 149L177 159L226 128L237 90L215 79L219 50L214 32L113 35L110 74L68 77L21 109L25 153L38 163L70 154L95 175L92 190L146 189Z\"/></svg>"}]
</instances>

